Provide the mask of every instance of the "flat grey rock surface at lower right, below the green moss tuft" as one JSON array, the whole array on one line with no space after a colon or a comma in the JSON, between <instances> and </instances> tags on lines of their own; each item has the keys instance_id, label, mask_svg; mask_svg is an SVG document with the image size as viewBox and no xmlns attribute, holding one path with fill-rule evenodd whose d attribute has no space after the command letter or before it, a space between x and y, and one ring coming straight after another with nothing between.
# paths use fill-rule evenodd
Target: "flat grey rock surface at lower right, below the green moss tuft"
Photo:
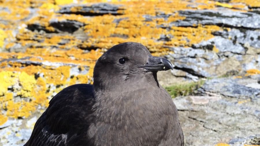
<instances>
[{"instance_id":1,"label":"flat grey rock surface at lower right, below the green moss tuft","mask_svg":"<svg viewBox=\"0 0 260 146\"><path fill-rule=\"evenodd\" d=\"M247 87L258 79L212 79L198 96L174 98L185 145L259 145L260 90Z\"/></svg>"}]
</instances>

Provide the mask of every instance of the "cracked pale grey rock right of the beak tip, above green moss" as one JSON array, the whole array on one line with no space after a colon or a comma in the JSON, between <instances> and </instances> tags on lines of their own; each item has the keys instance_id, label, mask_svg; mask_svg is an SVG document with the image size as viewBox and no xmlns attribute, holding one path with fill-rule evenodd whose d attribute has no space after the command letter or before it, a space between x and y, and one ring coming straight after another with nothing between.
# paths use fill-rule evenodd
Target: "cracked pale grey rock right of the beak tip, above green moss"
<instances>
[{"instance_id":1,"label":"cracked pale grey rock right of the beak tip, above green moss","mask_svg":"<svg viewBox=\"0 0 260 146\"><path fill-rule=\"evenodd\" d=\"M210 51L207 49L209 45L216 45L219 51ZM192 47L168 47L174 52L168 56L175 66L174 69L197 77L218 77L224 74L236 75L260 67L260 55L247 55L242 45L234 45L231 40L220 36L194 44Z\"/></svg>"}]
</instances>

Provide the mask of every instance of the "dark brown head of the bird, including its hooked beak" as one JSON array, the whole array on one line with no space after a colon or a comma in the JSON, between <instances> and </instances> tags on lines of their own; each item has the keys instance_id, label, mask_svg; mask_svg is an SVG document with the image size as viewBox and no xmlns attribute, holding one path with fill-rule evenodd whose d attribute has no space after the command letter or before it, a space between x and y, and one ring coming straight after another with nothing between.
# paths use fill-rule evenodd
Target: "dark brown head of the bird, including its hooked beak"
<instances>
[{"instance_id":1,"label":"dark brown head of the bird, including its hooked beak","mask_svg":"<svg viewBox=\"0 0 260 146\"><path fill-rule=\"evenodd\" d=\"M93 84L99 88L120 86L128 84L128 81L149 80L157 71L169 69L173 69L169 60L152 56L144 45L135 42L120 43L97 60Z\"/></svg>"}]
</instances>

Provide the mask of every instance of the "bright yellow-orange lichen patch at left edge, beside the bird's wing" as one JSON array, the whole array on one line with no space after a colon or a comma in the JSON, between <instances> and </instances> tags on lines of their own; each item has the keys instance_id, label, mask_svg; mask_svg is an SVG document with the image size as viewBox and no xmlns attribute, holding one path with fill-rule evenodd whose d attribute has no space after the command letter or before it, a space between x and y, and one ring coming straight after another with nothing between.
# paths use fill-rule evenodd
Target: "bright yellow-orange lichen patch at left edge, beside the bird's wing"
<instances>
[{"instance_id":1,"label":"bright yellow-orange lichen patch at left edge, beside the bird's wing","mask_svg":"<svg viewBox=\"0 0 260 146\"><path fill-rule=\"evenodd\" d=\"M32 91L35 91L36 81L34 77L25 72L1 71L1 94L0 104L6 109L6 116L9 117L28 117L35 106L39 103L35 102ZM8 88L12 88L13 92L7 92ZM36 91L38 92L38 90ZM20 97L17 97L20 96ZM22 98L29 97L31 101L25 101ZM14 102L14 98L21 98L21 101Z\"/></svg>"}]
</instances>

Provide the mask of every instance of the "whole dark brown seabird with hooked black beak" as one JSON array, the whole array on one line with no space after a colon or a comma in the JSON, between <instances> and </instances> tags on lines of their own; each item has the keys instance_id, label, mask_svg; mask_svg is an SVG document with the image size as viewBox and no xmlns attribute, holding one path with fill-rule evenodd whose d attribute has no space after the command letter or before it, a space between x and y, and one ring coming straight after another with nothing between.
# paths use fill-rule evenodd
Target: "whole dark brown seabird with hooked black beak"
<instances>
[{"instance_id":1,"label":"whole dark brown seabird with hooked black beak","mask_svg":"<svg viewBox=\"0 0 260 146\"><path fill-rule=\"evenodd\" d=\"M51 99L25 145L183 145L177 108L154 71L172 68L167 61L139 43L112 47L96 62L93 85Z\"/></svg>"}]
</instances>

